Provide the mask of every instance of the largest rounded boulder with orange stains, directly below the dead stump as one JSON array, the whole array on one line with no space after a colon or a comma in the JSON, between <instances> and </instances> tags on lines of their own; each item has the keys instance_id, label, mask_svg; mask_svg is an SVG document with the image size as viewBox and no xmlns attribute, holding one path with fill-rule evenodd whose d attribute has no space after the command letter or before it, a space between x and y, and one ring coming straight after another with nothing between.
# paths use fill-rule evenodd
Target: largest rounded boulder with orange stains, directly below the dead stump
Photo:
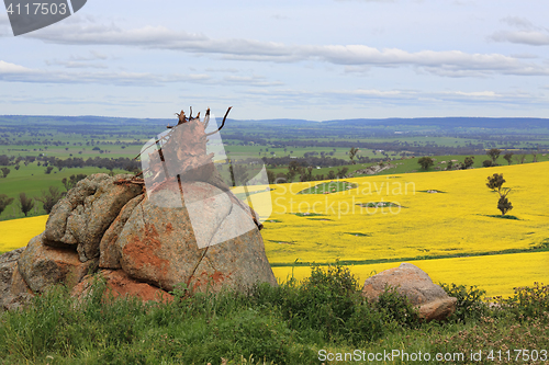
<instances>
[{"instance_id":1,"label":"largest rounded boulder with orange stains, directly below the dead stump","mask_svg":"<svg viewBox=\"0 0 549 365\"><path fill-rule=\"evenodd\" d=\"M248 213L225 193L203 182L183 183L187 206L165 207L159 202L181 201L179 190L164 189L155 202L143 199L120 232L105 269L122 267L130 276L172 290L178 283L203 290L210 286L249 287L257 282L276 285L259 230ZM202 206L193 208L190 204ZM124 214L124 212L123 212ZM192 220L192 221L191 221ZM192 224L192 223L199 224ZM203 242L197 244L200 232ZM239 233L244 232L244 233ZM228 238L228 239L226 239Z\"/></svg>"}]
</instances>

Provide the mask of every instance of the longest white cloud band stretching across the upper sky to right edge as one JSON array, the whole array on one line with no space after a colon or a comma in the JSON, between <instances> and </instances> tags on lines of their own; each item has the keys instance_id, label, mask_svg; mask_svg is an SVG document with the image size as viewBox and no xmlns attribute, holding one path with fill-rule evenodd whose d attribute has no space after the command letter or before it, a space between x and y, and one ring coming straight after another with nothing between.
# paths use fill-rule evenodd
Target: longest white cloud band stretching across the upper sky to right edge
<instances>
[{"instance_id":1,"label":"longest white cloud band stretching across the upper sky to right edge","mask_svg":"<svg viewBox=\"0 0 549 365\"><path fill-rule=\"evenodd\" d=\"M544 64L526 62L501 54L469 54L460 50L407 52L378 49L367 45L288 45L244 38L213 39L203 34L170 31L164 26L122 30L93 22L68 22L29 37L72 45L120 45L213 54L229 60L299 62L321 60L334 65L421 68L438 76L469 77L503 75L549 75ZM497 36L494 36L497 39ZM534 42L534 41L533 41ZM549 42L538 37L537 42Z\"/></svg>"}]
</instances>

